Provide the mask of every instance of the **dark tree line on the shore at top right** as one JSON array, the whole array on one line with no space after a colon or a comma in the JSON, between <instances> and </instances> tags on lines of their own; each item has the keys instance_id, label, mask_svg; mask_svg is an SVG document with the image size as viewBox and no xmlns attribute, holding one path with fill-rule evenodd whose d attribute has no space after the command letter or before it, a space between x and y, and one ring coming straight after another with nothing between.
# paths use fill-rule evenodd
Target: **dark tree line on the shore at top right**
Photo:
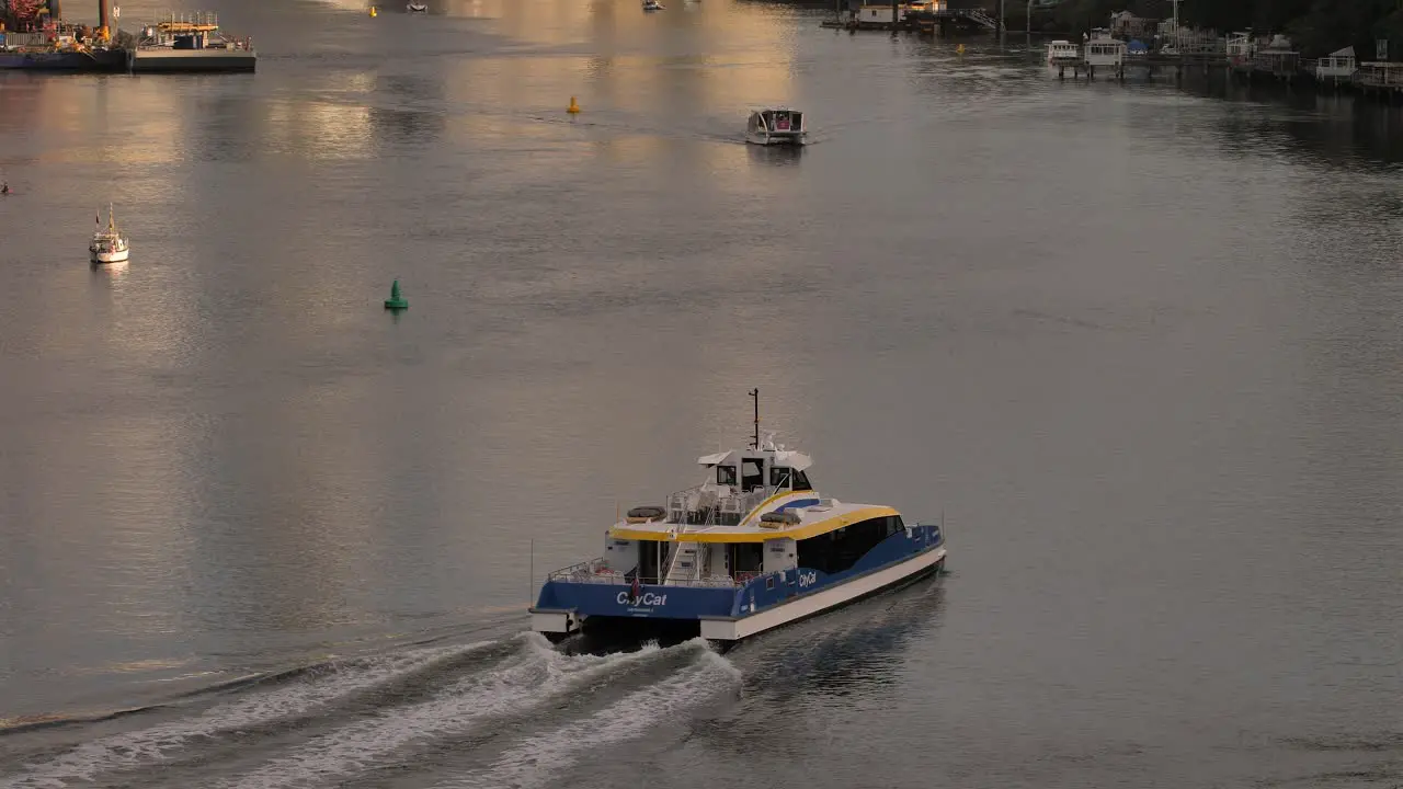
<instances>
[{"instance_id":1,"label":"dark tree line on the shore at top right","mask_svg":"<svg viewBox=\"0 0 1403 789\"><path fill-rule=\"evenodd\" d=\"M1169 0L1063 0L1054 24L1082 32L1106 27L1111 13L1121 10L1150 18L1173 15ZM1403 56L1403 0L1183 0L1179 20L1219 34L1249 28L1284 34L1306 58L1352 45L1361 60L1372 60L1381 38L1389 41L1390 59Z\"/></svg>"}]
</instances>

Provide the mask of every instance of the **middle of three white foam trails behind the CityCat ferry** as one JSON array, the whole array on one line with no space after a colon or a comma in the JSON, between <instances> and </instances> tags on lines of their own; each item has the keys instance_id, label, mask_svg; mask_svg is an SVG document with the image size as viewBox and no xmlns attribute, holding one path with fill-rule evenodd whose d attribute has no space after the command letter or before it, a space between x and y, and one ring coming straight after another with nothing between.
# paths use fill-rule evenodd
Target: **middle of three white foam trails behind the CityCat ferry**
<instances>
[{"instance_id":1,"label":"middle of three white foam trails behind the CityCat ferry","mask_svg":"<svg viewBox=\"0 0 1403 789\"><path fill-rule=\"evenodd\" d=\"M526 649L495 670L467 677L417 705L327 731L285 758L275 760L222 786L283 789L335 782L380 762L414 740L455 734L494 717L540 706L567 688L582 688L659 650L609 656L564 656L539 633L526 636Z\"/></svg>"}]
</instances>

